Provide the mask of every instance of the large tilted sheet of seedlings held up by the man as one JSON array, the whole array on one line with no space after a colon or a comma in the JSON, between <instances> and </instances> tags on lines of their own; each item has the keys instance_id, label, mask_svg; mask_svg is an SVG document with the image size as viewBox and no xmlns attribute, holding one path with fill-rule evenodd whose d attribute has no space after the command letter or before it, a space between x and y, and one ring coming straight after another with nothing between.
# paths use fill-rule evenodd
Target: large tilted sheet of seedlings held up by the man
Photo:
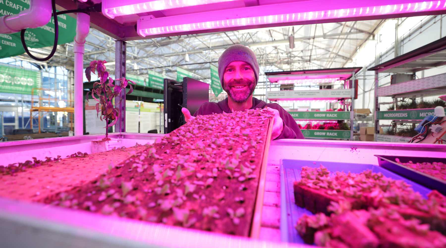
<instances>
[{"instance_id":1,"label":"large tilted sheet of seedlings held up by the man","mask_svg":"<svg viewBox=\"0 0 446 248\"><path fill-rule=\"evenodd\" d=\"M260 226L252 219L263 203L257 192L272 118L260 109L198 116L95 180L42 202L249 236Z\"/></svg>"}]
</instances>

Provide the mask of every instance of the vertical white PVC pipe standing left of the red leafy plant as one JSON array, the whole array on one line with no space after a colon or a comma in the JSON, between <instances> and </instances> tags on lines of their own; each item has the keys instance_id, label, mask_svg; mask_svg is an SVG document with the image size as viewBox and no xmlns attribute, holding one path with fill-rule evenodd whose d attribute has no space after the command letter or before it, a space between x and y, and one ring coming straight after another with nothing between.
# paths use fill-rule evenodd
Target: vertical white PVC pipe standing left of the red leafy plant
<instances>
[{"instance_id":1,"label":"vertical white PVC pipe standing left of the red leafy plant","mask_svg":"<svg viewBox=\"0 0 446 248\"><path fill-rule=\"evenodd\" d=\"M90 16L78 13L74 37L74 135L83 135L83 55L89 30Z\"/></svg>"}]
</instances>

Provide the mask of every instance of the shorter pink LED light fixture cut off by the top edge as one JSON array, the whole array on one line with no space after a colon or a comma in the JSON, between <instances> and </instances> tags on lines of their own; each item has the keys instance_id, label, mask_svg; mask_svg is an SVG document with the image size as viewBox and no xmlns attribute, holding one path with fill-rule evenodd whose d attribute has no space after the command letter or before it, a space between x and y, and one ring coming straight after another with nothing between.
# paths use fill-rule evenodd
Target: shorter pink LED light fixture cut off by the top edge
<instances>
[{"instance_id":1,"label":"shorter pink LED light fixture cut off by the top edge","mask_svg":"<svg viewBox=\"0 0 446 248\"><path fill-rule=\"evenodd\" d=\"M113 19L131 14L230 1L235 0L103 0L102 13Z\"/></svg>"}]
</instances>

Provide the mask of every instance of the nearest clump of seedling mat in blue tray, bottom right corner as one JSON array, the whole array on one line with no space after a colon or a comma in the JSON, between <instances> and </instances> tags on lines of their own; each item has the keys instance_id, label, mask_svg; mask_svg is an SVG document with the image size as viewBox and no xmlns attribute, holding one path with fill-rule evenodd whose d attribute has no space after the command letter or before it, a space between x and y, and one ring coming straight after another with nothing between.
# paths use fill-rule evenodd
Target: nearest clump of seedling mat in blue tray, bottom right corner
<instances>
[{"instance_id":1,"label":"nearest clump of seedling mat in blue tray, bottom right corner","mask_svg":"<svg viewBox=\"0 0 446 248\"><path fill-rule=\"evenodd\" d=\"M306 243L336 248L446 247L446 237L429 230L429 224L405 219L395 210L348 211L339 205L330 207L334 211L330 217L318 213L299 219L296 228Z\"/></svg>"}]
</instances>

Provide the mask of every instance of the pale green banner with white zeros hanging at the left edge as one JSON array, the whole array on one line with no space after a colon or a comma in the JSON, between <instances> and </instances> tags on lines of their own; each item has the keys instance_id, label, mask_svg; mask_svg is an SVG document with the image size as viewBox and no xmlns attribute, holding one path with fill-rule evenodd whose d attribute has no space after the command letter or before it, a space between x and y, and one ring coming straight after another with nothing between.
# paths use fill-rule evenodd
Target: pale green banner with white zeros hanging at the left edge
<instances>
[{"instance_id":1,"label":"pale green banner with white zeros hanging at the left edge","mask_svg":"<svg viewBox=\"0 0 446 248\"><path fill-rule=\"evenodd\" d=\"M41 85L39 71L0 66L0 92L31 95L33 88L40 88Z\"/></svg>"}]
</instances>

